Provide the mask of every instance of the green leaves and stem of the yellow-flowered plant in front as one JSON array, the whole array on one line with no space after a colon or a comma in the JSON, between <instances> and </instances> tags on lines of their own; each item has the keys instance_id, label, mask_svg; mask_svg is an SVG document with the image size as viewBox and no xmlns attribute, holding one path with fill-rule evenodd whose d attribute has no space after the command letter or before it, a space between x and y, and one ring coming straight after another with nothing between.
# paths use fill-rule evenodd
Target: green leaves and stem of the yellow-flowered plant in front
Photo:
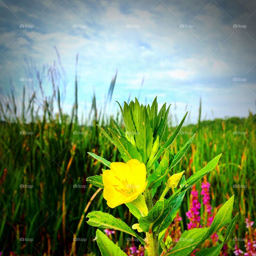
<instances>
[{"instance_id":1,"label":"green leaves and stem of the yellow-flowered plant in front","mask_svg":"<svg viewBox=\"0 0 256 256\"><path fill-rule=\"evenodd\" d=\"M161 255L162 251L164 256L178 256L181 254L190 255L190 253L198 248L211 234L217 232L223 226L231 222L226 232L227 239L234 228L234 223L236 220L235 217L234 220L231 221L234 196L232 196L219 209L210 227L192 229L189 231L185 230L178 243L172 249L167 251L165 246L170 246L169 243L171 241L163 241L163 235L179 211L186 190L217 166L221 154L214 157L201 170L191 175L187 181L185 178L183 178L181 187L168 199L165 199L164 196L169 189L164 191L162 189L159 190L158 193L163 194L160 199L154 203L153 197L158 187L161 186L162 182L166 180L166 176L170 173L170 170L181 161L182 157L189 149L195 134L185 143L184 146L181 147L181 149L177 151L175 155L173 155L167 148L173 143L174 139L180 132L181 126L187 114L182 119L179 126L175 129L174 133L164 143L163 147L158 149L159 140L161 141L163 138L163 133L166 128L170 106L166 110L166 104L164 104L159 113L157 113L156 99L153 101L151 107L149 105L147 107L143 105L140 106L137 99L135 99L135 102L131 101L129 105L125 102L123 109L120 104L119 107L121 109L126 131L122 132L117 123L113 121L118 132L115 133L109 128L109 131L113 137L114 145L117 146L125 162L129 161L130 159L138 159L147 167L148 185L142 196L148 208L147 215L144 214L142 216L139 209L136 209L135 204L126 203L130 212L138 219L139 228L146 233L147 255ZM105 134L110 141L112 140L109 138L109 135L105 133L105 131L103 134ZM165 153L162 156L164 151ZM95 155L93 157L95 157ZM102 158L99 158L99 160L101 162L103 161ZM96 184L96 186L101 186L100 178L97 178L98 183L93 180L93 177L90 177L88 181L91 181L92 184ZM89 218L87 221L89 225L117 229L126 232L130 235L134 235L141 241L141 243L145 244L145 241L139 237L135 231L133 231L121 220L114 218L112 215L102 213L100 211L93 211L89 213L87 217ZM213 249L206 249L203 251L203 253L205 253L205 255L209 255L209 253L217 253L223 244L224 243L221 243L220 245L215 246Z\"/></svg>"}]
</instances>

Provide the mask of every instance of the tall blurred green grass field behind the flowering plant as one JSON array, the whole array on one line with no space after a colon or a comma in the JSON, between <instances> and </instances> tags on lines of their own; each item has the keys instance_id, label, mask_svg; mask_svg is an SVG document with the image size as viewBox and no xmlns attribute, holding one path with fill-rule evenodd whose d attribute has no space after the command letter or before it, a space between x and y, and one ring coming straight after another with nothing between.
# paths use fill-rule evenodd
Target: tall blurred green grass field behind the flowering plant
<instances>
[{"instance_id":1,"label":"tall blurred green grass field behind the flowering plant","mask_svg":"<svg viewBox=\"0 0 256 256\"><path fill-rule=\"evenodd\" d=\"M71 116L62 114L60 104L59 114L54 115L53 102L49 100L42 102L43 114L39 117L34 103L33 96L27 106L23 103L20 117L14 97L0 103L0 251L2 255L10 255L11 251L17 255L99 255L93 241L95 228L86 224L87 213L111 212L128 225L134 223L125 205L110 209L98 188L86 182L87 177L101 174L105 167L87 152L110 162L121 161L115 146L96 126L112 127L113 122L102 121L95 98L91 116L84 118L82 125L77 121L77 101ZM120 113L115 120L122 126ZM211 184L211 204L217 211L235 195L233 214L240 214L233 237L238 238L245 237L245 218L250 216L255 220L256 215L255 120L255 115L249 114L244 119L216 119L187 125L170 147L171 152L177 153L196 133L190 149L173 168L173 173L186 170L186 178L222 153L216 169L207 177ZM164 139L174 129L170 117ZM197 183L197 189L200 192L201 183ZM190 191L180 211L182 231L187 224L189 194ZM74 234L79 241L73 241ZM126 238L126 234L118 231L113 235L121 248L126 246ZM239 243L242 248L243 241ZM230 248L234 245L233 240L229 242ZM233 255L233 249L229 253Z\"/></svg>"}]
</instances>

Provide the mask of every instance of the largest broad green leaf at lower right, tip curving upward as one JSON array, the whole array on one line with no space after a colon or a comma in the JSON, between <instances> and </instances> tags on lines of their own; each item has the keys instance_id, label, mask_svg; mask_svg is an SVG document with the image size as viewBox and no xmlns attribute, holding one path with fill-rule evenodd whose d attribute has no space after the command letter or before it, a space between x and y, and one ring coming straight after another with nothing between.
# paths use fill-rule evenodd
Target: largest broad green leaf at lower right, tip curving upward
<instances>
[{"instance_id":1,"label":"largest broad green leaf at lower right, tip curving upward","mask_svg":"<svg viewBox=\"0 0 256 256\"><path fill-rule=\"evenodd\" d=\"M185 230L178 243L171 249L167 255L179 256L189 255L196 249L203 241L205 241L211 234L215 233L223 226L231 221L232 209L234 203L234 196L232 196L218 211L213 223L210 227L199 229Z\"/></svg>"}]
</instances>

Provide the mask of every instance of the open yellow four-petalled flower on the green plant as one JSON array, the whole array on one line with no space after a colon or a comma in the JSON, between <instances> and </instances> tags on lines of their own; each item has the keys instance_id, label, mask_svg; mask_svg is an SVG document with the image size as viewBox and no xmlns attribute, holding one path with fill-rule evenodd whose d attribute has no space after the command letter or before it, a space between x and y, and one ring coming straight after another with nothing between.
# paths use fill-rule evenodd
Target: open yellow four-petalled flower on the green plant
<instances>
[{"instance_id":1,"label":"open yellow four-petalled flower on the green plant","mask_svg":"<svg viewBox=\"0 0 256 256\"><path fill-rule=\"evenodd\" d=\"M132 202L146 189L146 166L137 159L111 163L110 170L103 172L102 181L103 197L109 207Z\"/></svg>"}]
</instances>

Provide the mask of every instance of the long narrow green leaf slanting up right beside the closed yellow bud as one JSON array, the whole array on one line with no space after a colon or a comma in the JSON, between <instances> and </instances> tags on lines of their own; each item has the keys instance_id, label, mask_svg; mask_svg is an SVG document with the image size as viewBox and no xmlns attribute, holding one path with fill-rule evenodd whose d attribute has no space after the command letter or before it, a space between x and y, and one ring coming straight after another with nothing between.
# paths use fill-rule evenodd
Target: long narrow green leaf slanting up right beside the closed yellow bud
<instances>
[{"instance_id":1,"label":"long narrow green leaf slanting up right beside the closed yellow bud","mask_svg":"<svg viewBox=\"0 0 256 256\"><path fill-rule=\"evenodd\" d=\"M195 174L191 175L188 180L186 181L186 184L181 186L173 195L171 195L170 198L176 197L179 193L186 191L191 186L193 186L199 179L201 179L203 176L205 176L207 173L209 173L212 169L214 169L219 161L219 158L221 157L221 154L217 155L217 157L214 157L205 167L203 167L201 170L197 171Z\"/></svg>"}]
</instances>

